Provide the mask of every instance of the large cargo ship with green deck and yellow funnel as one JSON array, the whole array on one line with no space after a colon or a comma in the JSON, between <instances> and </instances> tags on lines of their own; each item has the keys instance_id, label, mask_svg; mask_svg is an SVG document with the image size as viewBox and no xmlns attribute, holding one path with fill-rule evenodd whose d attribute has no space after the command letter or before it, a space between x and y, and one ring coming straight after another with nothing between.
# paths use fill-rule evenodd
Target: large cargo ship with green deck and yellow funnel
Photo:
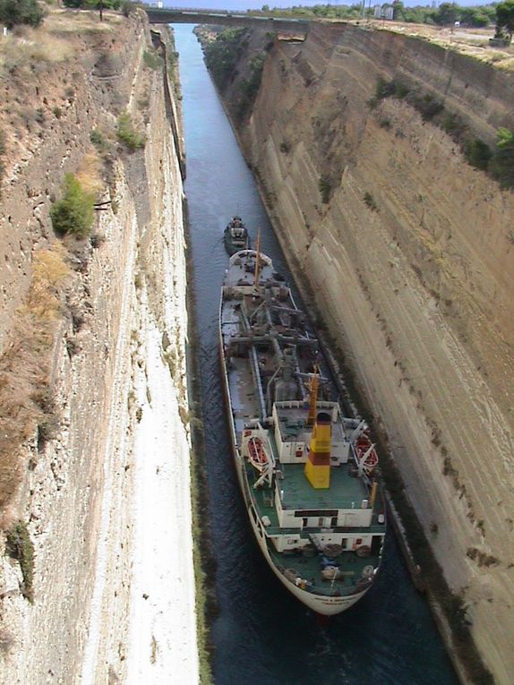
<instances>
[{"instance_id":1,"label":"large cargo ship with green deck and yellow funnel","mask_svg":"<svg viewBox=\"0 0 514 685\"><path fill-rule=\"evenodd\" d=\"M309 322L259 241L230 258L219 345L239 485L261 552L314 612L344 612L381 561L378 456L365 422L342 414Z\"/></svg>"}]
</instances>

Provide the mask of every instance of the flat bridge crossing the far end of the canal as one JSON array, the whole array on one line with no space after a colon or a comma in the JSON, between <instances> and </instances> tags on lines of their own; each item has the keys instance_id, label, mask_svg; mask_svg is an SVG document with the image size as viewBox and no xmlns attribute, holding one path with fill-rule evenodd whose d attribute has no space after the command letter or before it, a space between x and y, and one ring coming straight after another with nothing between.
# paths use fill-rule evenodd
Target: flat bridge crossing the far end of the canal
<instances>
[{"instance_id":1,"label":"flat bridge crossing the far end of the canal","mask_svg":"<svg viewBox=\"0 0 514 685\"><path fill-rule=\"evenodd\" d=\"M266 14L228 12L227 10L196 10L184 7L151 7L144 11L152 24L208 24L210 26L249 26L267 31L306 33L310 21Z\"/></svg>"}]
</instances>

